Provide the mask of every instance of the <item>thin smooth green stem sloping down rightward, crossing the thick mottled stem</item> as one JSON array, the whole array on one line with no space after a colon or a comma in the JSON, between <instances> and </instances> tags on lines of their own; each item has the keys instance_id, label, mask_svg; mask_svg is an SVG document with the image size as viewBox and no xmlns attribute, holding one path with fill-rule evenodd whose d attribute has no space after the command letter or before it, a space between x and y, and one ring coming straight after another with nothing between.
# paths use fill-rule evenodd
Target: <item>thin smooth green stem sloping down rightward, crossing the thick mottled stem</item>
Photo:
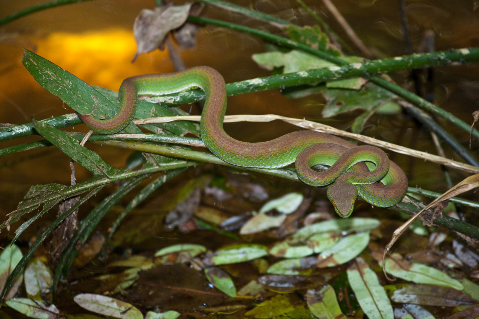
<instances>
[{"instance_id":1,"label":"thin smooth green stem sloping down rightward, crossing the thick mottled stem","mask_svg":"<svg viewBox=\"0 0 479 319\"><path fill-rule=\"evenodd\" d=\"M320 58L325 59L325 60L327 60L331 63L337 64L338 66L348 65L348 62L343 61L343 60L341 60L337 57L331 56L331 55L329 55L325 52L313 49L312 47L310 47L306 44L301 44L301 43L298 43L296 41L286 39L286 38L283 38L283 37L278 36L278 35L274 35L274 34L271 34L271 33L264 32L264 31L259 31L259 30L256 30L256 29L248 28L248 27L245 27L245 26L242 26L242 25L239 25L239 24L235 24L235 23L231 23L231 22L224 22L224 21L219 21L219 20L214 20L214 19L208 19L208 18L203 18L203 17L189 17L188 21L195 22L195 23L211 24L211 25L216 25L216 26L219 26L219 27L229 28L229 29L236 30L236 31L239 31L239 32L249 33L251 35L259 36L259 37L261 37L261 38L263 38L263 39L265 39L269 42L273 42L275 44L283 45L285 47L289 47L289 48L292 48L292 49L300 49L300 50L308 52L312 55L319 56ZM460 50L451 50L451 51L458 52L463 56L467 56L471 53L470 50L471 49L460 49ZM414 55L411 55L411 56L414 56ZM402 58L404 58L404 57L402 57ZM398 57L398 58L394 58L394 60L397 59L397 61L400 61L402 58ZM436 58L443 59L444 56L438 56ZM406 61L403 61L403 62L406 62ZM352 66L353 65L354 64L352 64ZM350 66L350 67L352 67L352 66ZM418 68L418 67L417 66L408 67L408 69L415 69L415 68ZM378 72L372 72L372 73L373 74L378 74ZM365 76L367 76L367 75L365 75ZM476 130L474 128L471 129L470 125L468 125L466 122L459 120L457 117L455 117L451 113L435 106L434 104L426 101L425 99L420 98L416 94L411 93L410 91L408 91L404 88L401 88L398 85L396 85L394 83L391 83L388 80L385 80L385 79L383 79L381 77L378 77L378 76L371 76L370 80L373 81L374 83L376 83L377 85L380 85L381 87L386 88L393 93L396 93L397 95L399 95L403 99L406 99L407 101L419 106L420 108L422 108L424 110L428 110L428 111L444 118L446 121L456 125L457 127L464 130L465 132L468 132L468 133L470 132L472 134L472 136L479 139L479 131L478 130Z\"/></svg>"}]
</instances>

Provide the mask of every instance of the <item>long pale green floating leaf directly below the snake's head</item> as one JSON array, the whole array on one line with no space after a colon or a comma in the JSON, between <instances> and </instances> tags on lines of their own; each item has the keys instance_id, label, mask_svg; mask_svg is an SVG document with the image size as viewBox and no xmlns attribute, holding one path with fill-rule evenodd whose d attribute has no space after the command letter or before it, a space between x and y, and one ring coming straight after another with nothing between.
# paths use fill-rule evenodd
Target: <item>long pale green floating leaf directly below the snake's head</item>
<instances>
[{"instance_id":1,"label":"long pale green floating leaf directly below the snake's head","mask_svg":"<svg viewBox=\"0 0 479 319\"><path fill-rule=\"evenodd\" d=\"M312 225L306 226L298 230L292 237L290 242L306 241L314 234L334 231L336 233L347 235L351 232L362 232L375 229L381 224L380 220L374 218L350 217L337 218L334 220L324 220Z\"/></svg>"}]
</instances>

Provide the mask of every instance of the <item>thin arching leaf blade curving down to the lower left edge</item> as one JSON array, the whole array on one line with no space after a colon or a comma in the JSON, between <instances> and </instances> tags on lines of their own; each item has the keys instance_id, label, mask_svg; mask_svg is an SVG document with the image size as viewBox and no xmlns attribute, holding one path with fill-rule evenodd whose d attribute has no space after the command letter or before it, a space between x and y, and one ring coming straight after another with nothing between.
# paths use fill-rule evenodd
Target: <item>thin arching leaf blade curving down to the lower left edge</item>
<instances>
[{"instance_id":1,"label":"thin arching leaf blade curving down to the lower left edge","mask_svg":"<svg viewBox=\"0 0 479 319\"><path fill-rule=\"evenodd\" d=\"M1 302L3 301L3 298L5 297L5 294L7 293L8 288L11 286L11 283L13 280L15 280L15 277L22 271L23 267L27 264L27 262L30 260L30 257L32 257L33 253L35 250L40 246L40 244L43 242L43 240L48 236L48 234L53 231L63 220L65 220L75 209L79 208L81 204L83 204L85 201L87 201L89 198L91 198L93 195L96 195L104 185L99 186L94 188L88 195L84 196L83 198L80 198L78 202L75 203L68 211L63 213L61 216L59 216L54 222L48 226L48 228L38 237L38 239L30 246L28 251L23 255L22 259L20 262L17 264L15 269L11 272L10 276L7 279L7 282L5 283L5 287L3 287L3 290L0 295L0 305Z\"/></svg>"}]
</instances>

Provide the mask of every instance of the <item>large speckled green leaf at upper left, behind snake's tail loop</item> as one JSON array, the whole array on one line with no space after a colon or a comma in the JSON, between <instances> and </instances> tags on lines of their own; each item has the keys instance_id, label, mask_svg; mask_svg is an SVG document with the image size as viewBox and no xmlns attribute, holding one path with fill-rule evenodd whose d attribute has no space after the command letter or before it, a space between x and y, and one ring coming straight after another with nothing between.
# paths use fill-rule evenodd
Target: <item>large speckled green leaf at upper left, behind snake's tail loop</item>
<instances>
[{"instance_id":1,"label":"large speckled green leaf at upper left, behind snake's tail loop","mask_svg":"<svg viewBox=\"0 0 479 319\"><path fill-rule=\"evenodd\" d=\"M101 119L115 115L117 108L114 103L70 72L29 50L23 53L22 62L42 87L64 100L73 110L81 114L91 114L95 110L95 115Z\"/></svg>"}]
</instances>

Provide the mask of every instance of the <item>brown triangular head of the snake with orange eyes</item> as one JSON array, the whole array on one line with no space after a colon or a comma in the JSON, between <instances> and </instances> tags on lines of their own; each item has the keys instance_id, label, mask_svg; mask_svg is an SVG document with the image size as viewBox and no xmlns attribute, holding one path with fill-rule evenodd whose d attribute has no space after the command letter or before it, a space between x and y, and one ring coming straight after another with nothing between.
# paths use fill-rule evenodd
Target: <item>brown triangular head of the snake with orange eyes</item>
<instances>
[{"instance_id":1,"label":"brown triangular head of the snake with orange eyes","mask_svg":"<svg viewBox=\"0 0 479 319\"><path fill-rule=\"evenodd\" d=\"M358 189L353 184L337 179L326 193L339 216L346 218L353 213Z\"/></svg>"}]
</instances>

